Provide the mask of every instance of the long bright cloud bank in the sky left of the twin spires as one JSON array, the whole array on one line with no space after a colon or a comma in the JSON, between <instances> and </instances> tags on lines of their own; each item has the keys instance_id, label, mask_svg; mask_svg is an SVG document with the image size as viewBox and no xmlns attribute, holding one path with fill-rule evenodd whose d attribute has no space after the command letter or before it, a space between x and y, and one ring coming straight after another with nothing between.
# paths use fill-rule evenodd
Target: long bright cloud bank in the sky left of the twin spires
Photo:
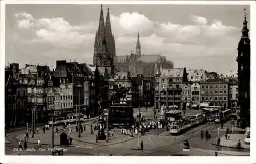
<instances>
[{"instance_id":1,"label":"long bright cloud bank in the sky left of the twin spires","mask_svg":"<svg viewBox=\"0 0 256 164\"><path fill-rule=\"evenodd\" d=\"M91 32L96 24L90 22L87 25L70 25L63 18L35 19L31 14L15 14L18 28L31 32L32 39L27 43L54 44L63 48L77 48L79 45L89 45L94 40Z\"/></svg>"}]
</instances>

